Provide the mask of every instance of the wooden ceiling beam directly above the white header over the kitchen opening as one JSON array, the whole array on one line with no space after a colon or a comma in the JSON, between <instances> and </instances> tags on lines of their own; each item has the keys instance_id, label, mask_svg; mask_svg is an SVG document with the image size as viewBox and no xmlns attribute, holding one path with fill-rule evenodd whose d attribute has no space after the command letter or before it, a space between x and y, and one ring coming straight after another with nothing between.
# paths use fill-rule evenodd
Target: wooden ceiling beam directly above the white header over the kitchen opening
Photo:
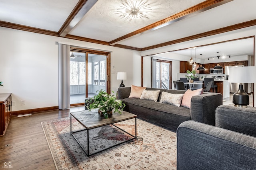
<instances>
[{"instance_id":1,"label":"wooden ceiling beam directly above the white header over the kitchen opening","mask_svg":"<svg viewBox=\"0 0 256 170\"><path fill-rule=\"evenodd\" d=\"M196 34L196 35L191 35L191 36L188 36L188 37L175 39L173 41L168 41L168 42L165 42L165 43L160 43L160 44L152 45L152 46L149 46L149 47L144 47L144 48L142 48L142 51L155 49L155 48L158 48L158 47L164 47L164 46L172 45L172 44L176 44L176 43L182 43L182 42L185 42L185 41L190 41L190 40L198 39L198 38L202 38L202 37L208 37L208 36L211 36L211 35L225 33L225 32L228 32L228 31L234 31L236 29L242 29L242 28L250 27L250 26L254 26L254 25L256 25L256 20L246 21L246 22L235 24L235 25L230 25L230 26L227 26L227 27L214 29L212 31L207 31L207 32L204 32L204 33Z\"/></svg>"}]
</instances>

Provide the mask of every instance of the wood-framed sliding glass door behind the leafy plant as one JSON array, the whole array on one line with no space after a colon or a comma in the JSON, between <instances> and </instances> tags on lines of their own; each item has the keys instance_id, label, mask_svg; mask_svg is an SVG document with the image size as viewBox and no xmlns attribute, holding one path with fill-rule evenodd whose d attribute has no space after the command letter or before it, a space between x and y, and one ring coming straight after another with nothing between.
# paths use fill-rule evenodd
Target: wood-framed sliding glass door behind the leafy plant
<instances>
[{"instance_id":1,"label":"wood-framed sliding glass door behind the leafy plant","mask_svg":"<svg viewBox=\"0 0 256 170\"><path fill-rule=\"evenodd\" d=\"M103 89L110 93L110 53L70 48L70 106L84 104Z\"/></svg>"}]
</instances>

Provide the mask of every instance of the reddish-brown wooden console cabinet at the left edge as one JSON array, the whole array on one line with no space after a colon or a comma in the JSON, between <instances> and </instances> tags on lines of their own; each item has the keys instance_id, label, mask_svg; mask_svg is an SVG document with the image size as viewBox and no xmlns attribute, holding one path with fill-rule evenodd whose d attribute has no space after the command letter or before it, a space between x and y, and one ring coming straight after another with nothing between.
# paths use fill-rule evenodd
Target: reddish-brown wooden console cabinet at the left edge
<instances>
[{"instance_id":1,"label":"reddish-brown wooden console cabinet at the left edge","mask_svg":"<svg viewBox=\"0 0 256 170\"><path fill-rule=\"evenodd\" d=\"M11 119L12 94L0 93L0 136L3 136Z\"/></svg>"}]
</instances>

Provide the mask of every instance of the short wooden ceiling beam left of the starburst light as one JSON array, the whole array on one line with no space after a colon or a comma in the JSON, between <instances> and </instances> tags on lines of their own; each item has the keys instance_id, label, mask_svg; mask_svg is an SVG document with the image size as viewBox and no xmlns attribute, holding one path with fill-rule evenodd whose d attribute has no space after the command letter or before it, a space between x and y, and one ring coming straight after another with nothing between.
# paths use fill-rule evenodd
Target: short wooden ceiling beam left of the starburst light
<instances>
[{"instance_id":1,"label":"short wooden ceiling beam left of the starburst light","mask_svg":"<svg viewBox=\"0 0 256 170\"><path fill-rule=\"evenodd\" d=\"M82 20L85 14L94 6L98 0L79 0L75 8L72 10L60 30L58 31L61 37L65 37L75 26Z\"/></svg>"}]
</instances>

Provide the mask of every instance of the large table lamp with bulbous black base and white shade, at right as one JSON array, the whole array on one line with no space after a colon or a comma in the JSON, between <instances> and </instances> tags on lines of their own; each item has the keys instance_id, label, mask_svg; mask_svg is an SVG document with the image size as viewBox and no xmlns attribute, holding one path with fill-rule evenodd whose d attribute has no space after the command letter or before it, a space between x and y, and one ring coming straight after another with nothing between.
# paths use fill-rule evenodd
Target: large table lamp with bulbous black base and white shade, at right
<instances>
[{"instance_id":1,"label":"large table lamp with bulbous black base and white shade, at right","mask_svg":"<svg viewBox=\"0 0 256 170\"><path fill-rule=\"evenodd\" d=\"M256 82L256 66L234 66L229 70L228 82L231 83L254 83ZM233 94L233 103L236 107L249 105L249 95L244 92L243 84L239 84L239 89Z\"/></svg>"}]
</instances>

